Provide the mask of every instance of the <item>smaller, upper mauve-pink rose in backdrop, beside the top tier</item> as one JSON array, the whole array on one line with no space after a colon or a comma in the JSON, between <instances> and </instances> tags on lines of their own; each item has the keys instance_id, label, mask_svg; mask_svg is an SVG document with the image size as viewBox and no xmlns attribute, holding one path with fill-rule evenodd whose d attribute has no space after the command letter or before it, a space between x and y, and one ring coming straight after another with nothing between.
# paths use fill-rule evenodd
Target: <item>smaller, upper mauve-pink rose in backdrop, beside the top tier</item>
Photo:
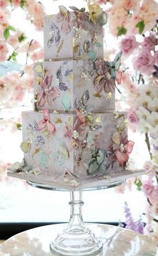
<instances>
[{"instance_id":1,"label":"smaller, upper mauve-pink rose in backdrop, beside the top tier","mask_svg":"<svg viewBox=\"0 0 158 256\"><path fill-rule=\"evenodd\" d=\"M120 48L124 54L131 54L135 48L139 45L135 40L135 36L128 36L121 40Z\"/></svg>"}]
</instances>

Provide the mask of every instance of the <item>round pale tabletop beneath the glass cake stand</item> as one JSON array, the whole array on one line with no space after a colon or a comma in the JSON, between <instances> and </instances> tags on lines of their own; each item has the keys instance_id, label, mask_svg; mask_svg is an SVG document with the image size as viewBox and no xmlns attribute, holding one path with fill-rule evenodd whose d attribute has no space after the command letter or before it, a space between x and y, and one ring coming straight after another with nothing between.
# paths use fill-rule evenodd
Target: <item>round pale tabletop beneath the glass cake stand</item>
<instances>
[{"instance_id":1,"label":"round pale tabletop beneath the glass cake stand","mask_svg":"<svg viewBox=\"0 0 158 256\"><path fill-rule=\"evenodd\" d=\"M105 224L87 224L104 243L99 256L157 256L155 243L145 235ZM0 256L53 256L50 242L66 224L33 228L11 237L0 248Z\"/></svg>"}]
</instances>

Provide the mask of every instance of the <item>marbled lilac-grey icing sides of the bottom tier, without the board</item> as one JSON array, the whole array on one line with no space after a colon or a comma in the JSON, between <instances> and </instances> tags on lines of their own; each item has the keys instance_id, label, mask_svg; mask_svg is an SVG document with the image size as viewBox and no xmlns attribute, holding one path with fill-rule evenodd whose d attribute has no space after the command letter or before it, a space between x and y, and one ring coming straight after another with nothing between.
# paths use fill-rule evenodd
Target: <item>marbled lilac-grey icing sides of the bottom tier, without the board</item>
<instances>
[{"instance_id":1,"label":"marbled lilac-grey icing sides of the bottom tier, without the board","mask_svg":"<svg viewBox=\"0 0 158 256\"><path fill-rule=\"evenodd\" d=\"M50 113L46 120L42 112L23 112L22 118L22 143L27 144L25 165L31 170L38 169L43 175L62 179L66 173L72 173L80 181L112 169L125 169L116 159L116 140L112 137L121 134L121 127L127 137L125 114L120 118L112 112L88 114L86 122L81 122L76 114ZM44 124L42 129L40 123ZM50 124L54 126L53 132Z\"/></svg>"}]
</instances>

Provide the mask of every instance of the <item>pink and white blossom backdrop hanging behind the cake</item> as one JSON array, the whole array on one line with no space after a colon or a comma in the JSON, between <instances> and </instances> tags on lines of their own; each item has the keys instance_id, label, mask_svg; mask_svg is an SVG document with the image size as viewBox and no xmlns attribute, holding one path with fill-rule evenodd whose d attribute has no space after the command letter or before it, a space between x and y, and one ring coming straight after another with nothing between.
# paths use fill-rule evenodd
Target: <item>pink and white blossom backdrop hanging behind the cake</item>
<instances>
[{"instance_id":1,"label":"pink and white blossom backdrop hanging behind the cake","mask_svg":"<svg viewBox=\"0 0 158 256\"><path fill-rule=\"evenodd\" d=\"M25 106L30 109L33 103L32 65L44 58L42 42L38 40L42 37L43 16L46 14L43 2L0 0L1 134L6 131L9 134L21 133L21 110ZM116 108L127 110L129 128L134 133L143 134L149 152L149 160L144 163L145 177L130 179L116 192L123 193L127 187L144 192L147 200L142 214L147 217L146 223L133 219L127 202L126 226L148 234L158 243L158 2L96 0L90 4L96 11L100 5L108 15L108 23L104 26L105 40L109 38L114 44L111 46L108 40L105 42L104 58L112 60L118 50L123 52L121 84L116 87ZM27 22L27 29L25 26L19 28L21 16L19 23L13 25L17 11ZM6 111L11 114L6 114ZM10 162L0 159L1 182L9 182L5 175L9 165Z\"/></svg>"}]
</instances>

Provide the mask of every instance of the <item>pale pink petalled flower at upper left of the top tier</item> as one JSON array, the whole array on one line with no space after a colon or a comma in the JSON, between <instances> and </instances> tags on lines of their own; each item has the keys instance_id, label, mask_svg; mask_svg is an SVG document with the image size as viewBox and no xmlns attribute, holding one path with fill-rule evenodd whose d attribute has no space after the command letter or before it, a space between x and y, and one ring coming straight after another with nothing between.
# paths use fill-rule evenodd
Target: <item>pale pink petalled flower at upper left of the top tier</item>
<instances>
[{"instance_id":1,"label":"pale pink petalled flower at upper left of the top tier","mask_svg":"<svg viewBox=\"0 0 158 256\"><path fill-rule=\"evenodd\" d=\"M66 16L60 12L56 17L56 21L62 22L61 30L62 30L62 32L64 32L64 34L68 34L72 30L70 11L68 11L68 14Z\"/></svg>"}]
</instances>

